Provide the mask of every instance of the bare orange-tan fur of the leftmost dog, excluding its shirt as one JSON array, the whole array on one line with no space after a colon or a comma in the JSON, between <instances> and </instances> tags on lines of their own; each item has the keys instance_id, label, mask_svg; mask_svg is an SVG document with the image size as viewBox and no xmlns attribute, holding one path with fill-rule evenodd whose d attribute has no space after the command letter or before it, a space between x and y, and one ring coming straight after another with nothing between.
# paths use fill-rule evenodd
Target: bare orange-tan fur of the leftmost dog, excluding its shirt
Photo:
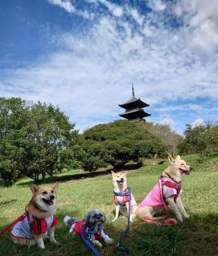
<instances>
[{"instance_id":1,"label":"bare orange-tan fur of the leftmost dog, excluding its shirt","mask_svg":"<svg viewBox=\"0 0 218 256\"><path fill-rule=\"evenodd\" d=\"M30 188L33 196L31 201L26 206L28 212L31 212L31 214L38 219L46 218L55 214L57 186L57 182L55 182L52 187L38 187L37 185L32 184ZM49 198L50 195L55 196L54 204L52 206L47 206L45 203L41 202L41 198ZM28 246L38 244L41 249L44 249L45 247L43 239L47 236L47 233L49 233L50 241L57 243L57 241L55 241L55 227L50 228L48 232L35 235L35 239L15 238L12 236L12 241L14 241L15 244L25 244Z\"/></svg>"}]
</instances>

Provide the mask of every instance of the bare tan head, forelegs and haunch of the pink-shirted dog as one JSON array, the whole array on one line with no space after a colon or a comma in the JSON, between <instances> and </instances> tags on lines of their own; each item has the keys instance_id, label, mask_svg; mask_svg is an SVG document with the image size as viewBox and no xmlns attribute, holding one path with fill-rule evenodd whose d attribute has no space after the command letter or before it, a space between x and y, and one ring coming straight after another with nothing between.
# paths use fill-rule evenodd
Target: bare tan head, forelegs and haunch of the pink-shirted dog
<instances>
[{"instance_id":1,"label":"bare tan head, forelegs and haunch of the pink-shirted dog","mask_svg":"<svg viewBox=\"0 0 218 256\"><path fill-rule=\"evenodd\" d=\"M185 160L182 160L179 155L177 155L177 158L172 158L171 155L169 155L169 166L163 171L163 176L171 177L175 181L180 182L182 180L183 171L186 171L187 174L190 173L190 166L185 163ZM182 205L182 201L180 196L177 197L176 203L174 202L174 198L168 198L166 201L169 203L169 208L174 211L174 213L177 215L177 218L180 222L182 222L182 218L189 217L189 215L185 212L185 208ZM137 208L137 217L140 219L143 219L144 217L153 217L156 212L159 212L163 210L163 207L161 206L139 206Z\"/></svg>"}]
</instances>

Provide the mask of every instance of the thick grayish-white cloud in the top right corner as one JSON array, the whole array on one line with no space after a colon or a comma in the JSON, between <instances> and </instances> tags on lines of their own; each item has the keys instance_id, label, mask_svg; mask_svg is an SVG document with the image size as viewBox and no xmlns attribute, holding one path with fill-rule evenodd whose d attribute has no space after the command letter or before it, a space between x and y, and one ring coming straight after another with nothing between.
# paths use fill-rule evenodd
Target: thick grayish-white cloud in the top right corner
<instances>
[{"instance_id":1,"label":"thick grayish-white cloud in the top right corner","mask_svg":"<svg viewBox=\"0 0 218 256\"><path fill-rule=\"evenodd\" d=\"M218 50L217 0L179 0L174 12L185 23L183 30L187 34L190 47L211 58Z\"/></svg>"}]
</instances>

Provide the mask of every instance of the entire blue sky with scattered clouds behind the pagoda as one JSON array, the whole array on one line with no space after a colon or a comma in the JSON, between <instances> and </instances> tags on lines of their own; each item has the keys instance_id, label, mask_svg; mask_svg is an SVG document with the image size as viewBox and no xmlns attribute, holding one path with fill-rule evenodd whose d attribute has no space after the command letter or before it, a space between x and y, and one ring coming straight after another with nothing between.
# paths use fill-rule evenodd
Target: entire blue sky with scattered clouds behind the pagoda
<instances>
[{"instance_id":1,"label":"entire blue sky with scattered clouds behind the pagoda","mask_svg":"<svg viewBox=\"0 0 218 256\"><path fill-rule=\"evenodd\" d=\"M217 0L0 1L0 92L46 101L83 131L135 94L181 133L218 120Z\"/></svg>"}]
</instances>

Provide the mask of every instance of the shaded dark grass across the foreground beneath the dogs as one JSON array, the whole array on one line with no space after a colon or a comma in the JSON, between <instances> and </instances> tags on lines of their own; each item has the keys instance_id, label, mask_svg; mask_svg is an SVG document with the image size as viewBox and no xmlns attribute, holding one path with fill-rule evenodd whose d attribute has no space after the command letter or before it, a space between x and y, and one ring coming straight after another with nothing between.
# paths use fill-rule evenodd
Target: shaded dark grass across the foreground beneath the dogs
<instances>
[{"instance_id":1,"label":"shaded dark grass across the foreground beneath the dogs","mask_svg":"<svg viewBox=\"0 0 218 256\"><path fill-rule=\"evenodd\" d=\"M12 241L9 240L9 234L7 234L7 236L0 237L0 255L93 255L80 236L68 234L69 228L63 224L63 217L64 214L57 214L59 224L56 229L56 238L59 245L49 244L46 241L44 252L36 246L28 249L28 247L13 245ZM105 232L114 239L114 243L108 245L102 242L103 247L101 249L96 247L101 255L124 255L123 252L117 251L116 244L126 228L126 223L127 219L121 218L117 222L108 220L105 223ZM195 215L176 227L168 228L158 228L136 220L124 239L124 246L128 247L129 256L217 255L217 227L217 214Z\"/></svg>"}]
</instances>

